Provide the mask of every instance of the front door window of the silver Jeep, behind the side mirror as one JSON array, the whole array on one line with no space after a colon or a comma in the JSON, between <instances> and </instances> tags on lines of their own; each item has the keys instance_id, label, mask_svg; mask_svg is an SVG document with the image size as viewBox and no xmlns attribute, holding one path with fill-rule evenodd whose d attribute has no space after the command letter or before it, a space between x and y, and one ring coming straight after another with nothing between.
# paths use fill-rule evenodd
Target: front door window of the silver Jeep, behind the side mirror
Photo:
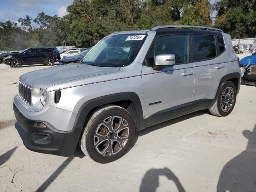
<instances>
[{"instance_id":1,"label":"front door window of the silver Jeep, behind the side mirror","mask_svg":"<svg viewBox=\"0 0 256 192\"><path fill-rule=\"evenodd\" d=\"M189 35L167 35L156 38L155 56L159 54L174 54L175 63L189 61Z\"/></svg>"}]
</instances>

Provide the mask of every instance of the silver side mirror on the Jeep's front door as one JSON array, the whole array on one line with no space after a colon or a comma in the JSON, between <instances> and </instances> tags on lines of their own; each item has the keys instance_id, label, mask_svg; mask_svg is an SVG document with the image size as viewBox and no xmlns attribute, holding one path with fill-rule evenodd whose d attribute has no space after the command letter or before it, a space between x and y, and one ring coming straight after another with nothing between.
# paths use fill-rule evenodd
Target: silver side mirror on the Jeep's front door
<instances>
[{"instance_id":1,"label":"silver side mirror on the Jeep's front door","mask_svg":"<svg viewBox=\"0 0 256 192\"><path fill-rule=\"evenodd\" d=\"M175 55L174 54L160 54L155 58L155 67L164 68L167 66L174 66L175 64Z\"/></svg>"}]
</instances>

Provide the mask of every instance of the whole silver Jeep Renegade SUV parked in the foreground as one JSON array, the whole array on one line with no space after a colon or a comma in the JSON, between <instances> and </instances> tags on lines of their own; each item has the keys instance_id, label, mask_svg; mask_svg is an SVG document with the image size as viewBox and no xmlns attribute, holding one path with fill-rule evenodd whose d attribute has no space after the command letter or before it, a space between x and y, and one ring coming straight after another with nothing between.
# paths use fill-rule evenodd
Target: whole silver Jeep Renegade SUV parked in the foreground
<instances>
[{"instance_id":1,"label":"whole silver Jeep Renegade SUV parked in the foreground","mask_svg":"<svg viewBox=\"0 0 256 192\"><path fill-rule=\"evenodd\" d=\"M107 163L148 126L204 109L227 116L240 79L230 35L220 29L115 32L77 63L22 75L16 128L30 150L69 155L79 145Z\"/></svg>"}]
</instances>

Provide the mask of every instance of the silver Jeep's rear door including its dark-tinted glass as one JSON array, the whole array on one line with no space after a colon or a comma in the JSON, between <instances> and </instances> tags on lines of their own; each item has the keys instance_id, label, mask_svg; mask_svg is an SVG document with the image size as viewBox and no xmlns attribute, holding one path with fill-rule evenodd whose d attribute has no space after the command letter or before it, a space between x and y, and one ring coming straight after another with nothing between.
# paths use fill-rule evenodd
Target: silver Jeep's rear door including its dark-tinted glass
<instances>
[{"instance_id":1,"label":"silver Jeep's rear door including its dark-tinted glass","mask_svg":"<svg viewBox=\"0 0 256 192\"><path fill-rule=\"evenodd\" d=\"M193 35L193 60L195 64L195 87L192 109L207 107L215 98L220 83L227 68L223 37L214 34ZM201 103L197 106L197 104Z\"/></svg>"}]
</instances>

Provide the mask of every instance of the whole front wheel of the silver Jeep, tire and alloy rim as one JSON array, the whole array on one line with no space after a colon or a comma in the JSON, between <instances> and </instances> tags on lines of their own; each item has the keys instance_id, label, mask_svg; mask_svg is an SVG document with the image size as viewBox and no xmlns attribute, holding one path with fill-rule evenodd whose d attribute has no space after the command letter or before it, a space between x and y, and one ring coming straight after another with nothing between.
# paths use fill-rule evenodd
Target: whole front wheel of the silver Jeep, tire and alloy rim
<instances>
[{"instance_id":1,"label":"whole front wheel of the silver Jeep, tire and alloy rim","mask_svg":"<svg viewBox=\"0 0 256 192\"><path fill-rule=\"evenodd\" d=\"M120 120L118 124L116 124L116 119ZM113 125L117 125L118 128L113 128ZM102 130L104 130L104 136L98 134L103 134ZM134 133L135 126L130 113L120 106L107 105L92 112L82 132L79 144L82 152L94 161L109 163L128 152L134 140ZM126 136L124 137L124 135Z\"/></svg>"}]
</instances>

